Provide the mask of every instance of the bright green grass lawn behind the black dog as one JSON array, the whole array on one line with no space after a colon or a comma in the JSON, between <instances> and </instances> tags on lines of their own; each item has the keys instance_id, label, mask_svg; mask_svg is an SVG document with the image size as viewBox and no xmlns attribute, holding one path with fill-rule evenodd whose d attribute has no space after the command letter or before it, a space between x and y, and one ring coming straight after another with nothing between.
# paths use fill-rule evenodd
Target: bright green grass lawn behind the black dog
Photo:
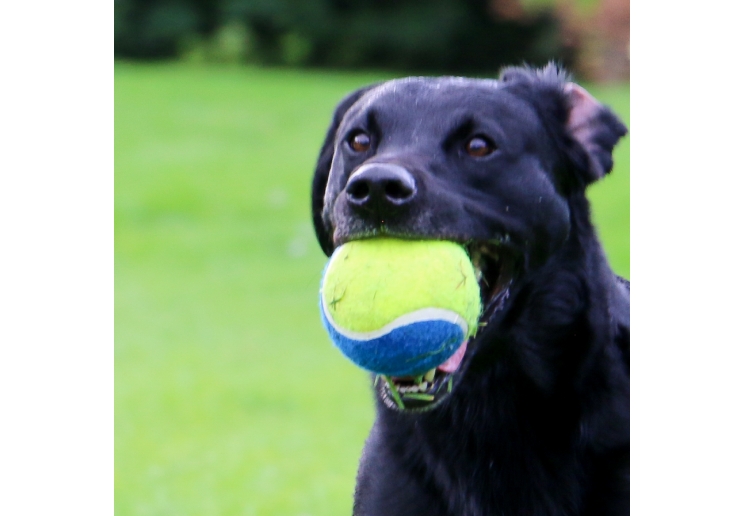
<instances>
[{"instance_id":1,"label":"bright green grass lawn behind the black dog","mask_svg":"<svg viewBox=\"0 0 744 516\"><path fill-rule=\"evenodd\" d=\"M329 344L309 217L335 103L380 74L115 70L115 509L347 515L372 422ZM628 120L627 86L590 88ZM629 273L629 146L592 190Z\"/></svg>"}]
</instances>

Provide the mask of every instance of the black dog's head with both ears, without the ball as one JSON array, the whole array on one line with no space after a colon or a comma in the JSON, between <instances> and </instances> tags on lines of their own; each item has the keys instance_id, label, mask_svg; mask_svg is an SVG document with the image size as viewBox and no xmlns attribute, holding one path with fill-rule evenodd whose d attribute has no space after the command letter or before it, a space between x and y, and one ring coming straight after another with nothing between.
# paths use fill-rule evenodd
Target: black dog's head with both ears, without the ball
<instances>
[{"instance_id":1,"label":"black dog's head with both ears, without the ball","mask_svg":"<svg viewBox=\"0 0 744 516\"><path fill-rule=\"evenodd\" d=\"M611 170L625 132L552 65L507 69L499 80L408 78L360 89L338 105L320 153L318 240L328 255L382 235L462 243L480 278L485 326L564 246L570 199Z\"/></svg>"}]
</instances>

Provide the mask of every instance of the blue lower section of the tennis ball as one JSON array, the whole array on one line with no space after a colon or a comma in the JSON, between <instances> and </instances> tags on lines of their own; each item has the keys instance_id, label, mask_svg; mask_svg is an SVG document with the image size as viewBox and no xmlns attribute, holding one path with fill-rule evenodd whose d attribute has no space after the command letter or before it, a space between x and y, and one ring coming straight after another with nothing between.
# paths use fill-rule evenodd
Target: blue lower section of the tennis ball
<instances>
[{"instance_id":1,"label":"blue lower section of the tennis ball","mask_svg":"<svg viewBox=\"0 0 744 516\"><path fill-rule=\"evenodd\" d=\"M353 339L331 324L322 301L320 313L331 340L349 360L388 376L423 374L451 357L466 338L460 324L434 319L399 326L372 339Z\"/></svg>"}]
</instances>

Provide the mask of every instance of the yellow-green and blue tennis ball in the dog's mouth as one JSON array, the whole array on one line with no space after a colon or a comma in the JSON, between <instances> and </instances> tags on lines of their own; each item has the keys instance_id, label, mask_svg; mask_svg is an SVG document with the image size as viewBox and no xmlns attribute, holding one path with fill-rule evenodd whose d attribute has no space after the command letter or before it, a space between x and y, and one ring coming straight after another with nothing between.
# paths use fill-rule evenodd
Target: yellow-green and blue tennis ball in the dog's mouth
<instances>
[{"instance_id":1,"label":"yellow-green and blue tennis ball in the dog's mouth","mask_svg":"<svg viewBox=\"0 0 744 516\"><path fill-rule=\"evenodd\" d=\"M352 362L415 376L452 356L477 330L480 289L462 246L375 238L336 249L320 291L323 325Z\"/></svg>"}]
</instances>

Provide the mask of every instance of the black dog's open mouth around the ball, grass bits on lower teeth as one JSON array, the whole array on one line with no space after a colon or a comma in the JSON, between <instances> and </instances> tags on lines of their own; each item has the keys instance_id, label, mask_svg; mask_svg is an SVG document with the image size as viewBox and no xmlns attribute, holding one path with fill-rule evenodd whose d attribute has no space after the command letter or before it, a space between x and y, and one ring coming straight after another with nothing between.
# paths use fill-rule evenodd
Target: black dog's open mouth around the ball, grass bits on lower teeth
<instances>
[{"instance_id":1,"label":"black dog's open mouth around the ball, grass bits on lower teeth","mask_svg":"<svg viewBox=\"0 0 744 516\"><path fill-rule=\"evenodd\" d=\"M465 249L475 269L481 292L481 316L478 331L465 340L442 364L423 375L392 377L377 375L375 388L383 403L393 410L430 410L449 397L466 363L478 347L483 328L504 308L516 273L516 255L505 244L508 239L469 242Z\"/></svg>"}]
</instances>

